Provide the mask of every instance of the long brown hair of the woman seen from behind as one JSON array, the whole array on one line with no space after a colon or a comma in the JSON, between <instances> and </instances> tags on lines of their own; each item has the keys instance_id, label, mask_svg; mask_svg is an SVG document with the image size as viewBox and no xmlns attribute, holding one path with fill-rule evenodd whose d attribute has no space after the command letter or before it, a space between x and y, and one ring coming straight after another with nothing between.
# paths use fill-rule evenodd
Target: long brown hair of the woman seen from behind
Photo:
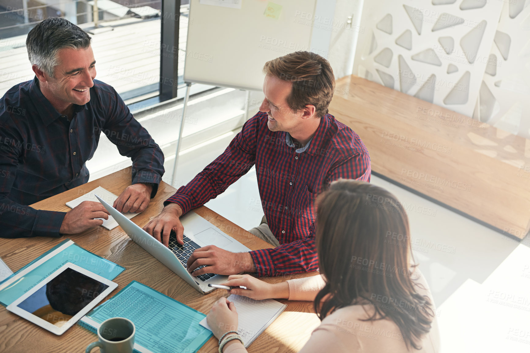
<instances>
[{"instance_id":1,"label":"long brown hair of the woman seen from behind","mask_svg":"<svg viewBox=\"0 0 530 353\"><path fill-rule=\"evenodd\" d=\"M411 278L409 222L395 196L373 184L337 180L317 200L315 241L326 281L314 303L320 319L341 307L372 304L375 312L364 321L391 319L407 347L421 349L434 312Z\"/></svg>"}]
</instances>

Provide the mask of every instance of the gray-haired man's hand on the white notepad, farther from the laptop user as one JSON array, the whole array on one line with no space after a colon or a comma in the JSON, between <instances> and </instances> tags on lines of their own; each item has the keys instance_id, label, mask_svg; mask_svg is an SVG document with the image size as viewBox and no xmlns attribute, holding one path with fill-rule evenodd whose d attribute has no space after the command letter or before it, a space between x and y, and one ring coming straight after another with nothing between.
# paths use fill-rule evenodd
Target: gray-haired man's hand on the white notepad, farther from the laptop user
<instances>
[{"instance_id":1,"label":"gray-haired man's hand on the white notepad, farther from the laptop user","mask_svg":"<svg viewBox=\"0 0 530 353\"><path fill-rule=\"evenodd\" d=\"M59 233L77 234L103 224L102 220L96 218L108 220L109 212L99 202L83 201L66 213Z\"/></svg>"}]
</instances>

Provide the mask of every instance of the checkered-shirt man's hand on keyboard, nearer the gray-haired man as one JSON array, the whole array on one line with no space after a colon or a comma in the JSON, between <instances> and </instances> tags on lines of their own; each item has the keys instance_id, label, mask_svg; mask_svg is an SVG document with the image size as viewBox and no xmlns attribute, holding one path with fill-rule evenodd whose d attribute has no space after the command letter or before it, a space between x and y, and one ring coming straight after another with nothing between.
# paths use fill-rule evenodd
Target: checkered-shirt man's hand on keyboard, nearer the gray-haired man
<instances>
[{"instance_id":1,"label":"checkered-shirt man's hand on keyboard, nearer the gray-haired man","mask_svg":"<svg viewBox=\"0 0 530 353\"><path fill-rule=\"evenodd\" d=\"M181 215L180 206L176 203L170 203L164 207L159 215L145 225L144 230L166 247L169 245L169 235L173 230L176 233L176 241L182 245L184 243L182 241L184 227L180 222Z\"/></svg>"}]
</instances>

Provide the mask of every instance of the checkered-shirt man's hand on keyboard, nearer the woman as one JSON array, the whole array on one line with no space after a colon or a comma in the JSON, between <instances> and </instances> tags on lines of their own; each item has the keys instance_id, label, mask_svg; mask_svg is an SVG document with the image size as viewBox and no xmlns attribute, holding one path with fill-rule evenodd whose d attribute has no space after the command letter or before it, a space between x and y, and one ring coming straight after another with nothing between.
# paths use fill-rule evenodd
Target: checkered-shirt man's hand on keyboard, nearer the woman
<instances>
[{"instance_id":1,"label":"checkered-shirt man's hand on keyboard, nearer the woman","mask_svg":"<svg viewBox=\"0 0 530 353\"><path fill-rule=\"evenodd\" d=\"M200 266L206 266L199 268ZM242 272L255 272L254 261L249 252L230 252L208 245L193 252L188 259L188 271L192 276L205 273L216 273L219 275L235 275Z\"/></svg>"}]
</instances>

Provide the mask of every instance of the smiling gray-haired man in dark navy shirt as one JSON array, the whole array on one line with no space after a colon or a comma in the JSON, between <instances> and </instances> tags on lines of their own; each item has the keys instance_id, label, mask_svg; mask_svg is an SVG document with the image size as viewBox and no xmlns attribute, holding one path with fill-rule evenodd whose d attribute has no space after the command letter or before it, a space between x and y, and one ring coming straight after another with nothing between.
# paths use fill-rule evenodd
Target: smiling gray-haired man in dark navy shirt
<instances>
[{"instance_id":1,"label":"smiling gray-haired man in dark navy shirt","mask_svg":"<svg viewBox=\"0 0 530 353\"><path fill-rule=\"evenodd\" d=\"M108 212L85 201L65 212L27 205L89 180L85 162L103 132L133 160L133 184L114 203L120 212L144 211L164 174L164 155L111 86L94 80L91 38L54 17L35 26L26 47L35 77L0 98L0 237L80 233Z\"/></svg>"}]
</instances>

